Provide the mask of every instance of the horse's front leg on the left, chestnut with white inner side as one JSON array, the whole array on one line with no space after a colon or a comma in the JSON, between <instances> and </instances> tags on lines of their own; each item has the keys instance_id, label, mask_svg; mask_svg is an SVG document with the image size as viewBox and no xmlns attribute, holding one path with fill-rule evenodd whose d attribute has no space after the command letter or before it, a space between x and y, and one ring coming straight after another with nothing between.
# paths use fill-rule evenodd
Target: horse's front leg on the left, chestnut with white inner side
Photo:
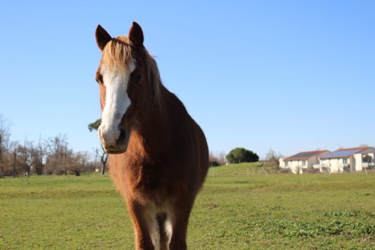
<instances>
[{"instance_id":1,"label":"horse's front leg on the left, chestnut with white inner side","mask_svg":"<svg viewBox=\"0 0 375 250\"><path fill-rule=\"evenodd\" d=\"M159 250L160 232L154 206L128 200L127 207L133 221L137 250Z\"/></svg>"}]
</instances>

